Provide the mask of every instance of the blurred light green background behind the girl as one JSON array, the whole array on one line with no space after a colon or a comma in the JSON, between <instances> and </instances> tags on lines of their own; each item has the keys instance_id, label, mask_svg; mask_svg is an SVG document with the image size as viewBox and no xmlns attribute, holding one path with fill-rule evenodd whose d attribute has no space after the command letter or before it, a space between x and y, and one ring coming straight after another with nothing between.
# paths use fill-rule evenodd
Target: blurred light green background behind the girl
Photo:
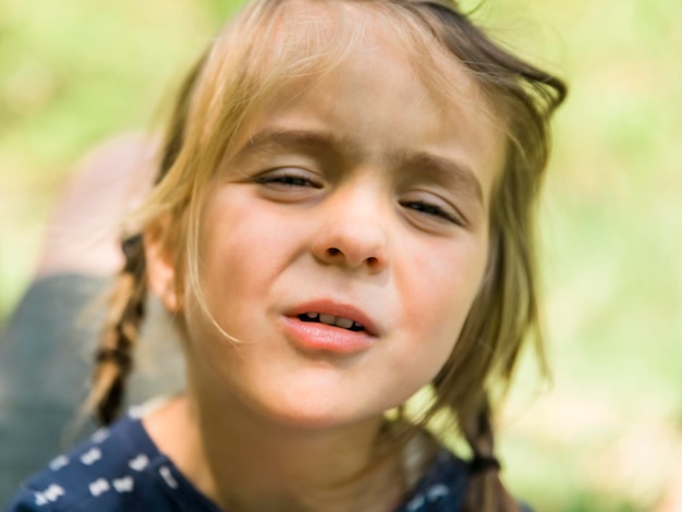
<instances>
[{"instance_id":1,"label":"blurred light green background behind the girl","mask_svg":"<svg viewBox=\"0 0 682 512\"><path fill-rule=\"evenodd\" d=\"M471 4L471 2L470 2ZM2 0L0 325L69 171L146 130L233 9L220 0ZM539 511L671 512L682 487L682 2L490 0L478 20L565 76L541 210L550 386L504 415Z\"/></svg>"}]
</instances>

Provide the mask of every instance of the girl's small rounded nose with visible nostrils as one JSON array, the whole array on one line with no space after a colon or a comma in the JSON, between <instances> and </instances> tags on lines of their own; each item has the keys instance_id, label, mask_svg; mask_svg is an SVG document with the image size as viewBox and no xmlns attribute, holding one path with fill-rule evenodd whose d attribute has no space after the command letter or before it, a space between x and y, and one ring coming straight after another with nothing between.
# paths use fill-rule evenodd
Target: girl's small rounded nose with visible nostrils
<instances>
[{"instance_id":1,"label":"girl's small rounded nose with visible nostrils","mask_svg":"<svg viewBox=\"0 0 682 512\"><path fill-rule=\"evenodd\" d=\"M351 190L325 203L313 243L318 261L376 273L388 265L388 211L377 194Z\"/></svg>"}]
</instances>

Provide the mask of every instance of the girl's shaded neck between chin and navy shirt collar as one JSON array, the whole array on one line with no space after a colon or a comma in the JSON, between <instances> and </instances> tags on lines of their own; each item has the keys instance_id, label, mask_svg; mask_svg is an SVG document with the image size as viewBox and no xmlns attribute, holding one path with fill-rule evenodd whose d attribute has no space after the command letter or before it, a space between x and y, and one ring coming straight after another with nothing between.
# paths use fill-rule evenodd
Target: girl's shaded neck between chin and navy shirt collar
<instances>
[{"instance_id":1,"label":"girl's shaded neck between chin and navy shirt collar","mask_svg":"<svg viewBox=\"0 0 682 512\"><path fill-rule=\"evenodd\" d=\"M336 428L295 428L236 401L187 393L145 420L161 451L226 510L387 511L401 498L398 456L376 465L382 418ZM370 468L369 471L366 471Z\"/></svg>"}]
</instances>

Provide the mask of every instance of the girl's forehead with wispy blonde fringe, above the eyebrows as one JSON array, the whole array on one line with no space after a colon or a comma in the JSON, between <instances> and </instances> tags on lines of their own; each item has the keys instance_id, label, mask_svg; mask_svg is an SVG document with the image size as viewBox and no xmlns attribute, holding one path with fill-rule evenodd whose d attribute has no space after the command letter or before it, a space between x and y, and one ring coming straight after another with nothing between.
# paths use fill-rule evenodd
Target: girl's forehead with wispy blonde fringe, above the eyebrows
<instances>
[{"instance_id":1,"label":"girl's forehead with wispy blonde fringe, above the eyebrows","mask_svg":"<svg viewBox=\"0 0 682 512\"><path fill-rule=\"evenodd\" d=\"M478 153L492 162L504 155L504 118L496 115L495 102L437 40L438 31L404 5L360 0L256 5L226 26L195 92L192 123L202 135L194 150L208 156L202 164L207 179L244 147L264 117L310 108L319 115L338 111L341 101L364 113L362 122L402 115L402 125L419 123L419 135L458 132L470 156ZM356 94L334 98L329 85L340 81ZM361 94L363 87L372 90ZM405 98L416 108L403 109ZM496 169L503 163L489 162Z\"/></svg>"}]
</instances>

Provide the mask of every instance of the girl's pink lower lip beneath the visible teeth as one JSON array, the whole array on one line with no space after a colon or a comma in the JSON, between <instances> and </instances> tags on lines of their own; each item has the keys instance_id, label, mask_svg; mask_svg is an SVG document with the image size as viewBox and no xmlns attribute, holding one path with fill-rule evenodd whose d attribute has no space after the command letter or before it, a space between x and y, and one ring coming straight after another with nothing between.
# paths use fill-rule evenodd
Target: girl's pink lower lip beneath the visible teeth
<instances>
[{"instance_id":1,"label":"girl's pink lower lip beneath the visible teeth","mask_svg":"<svg viewBox=\"0 0 682 512\"><path fill-rule=\"evenodd\" d=\"M368 350L375 342L375 338L365 331L350 331L295 317L285 317L283 328L284 334L296 348L308 352L350 355Z\"/></svg>"}]
</instances>

